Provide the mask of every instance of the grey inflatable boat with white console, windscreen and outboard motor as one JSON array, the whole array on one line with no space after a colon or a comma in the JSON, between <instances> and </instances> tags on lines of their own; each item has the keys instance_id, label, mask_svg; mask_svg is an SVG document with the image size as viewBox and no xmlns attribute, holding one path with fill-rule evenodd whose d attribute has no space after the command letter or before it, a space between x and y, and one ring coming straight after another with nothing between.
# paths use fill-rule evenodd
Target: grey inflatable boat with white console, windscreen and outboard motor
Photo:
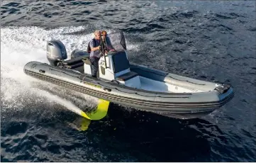
<instances>
[{"instance_id":1,"label":"grey inflatable boat with white console, windscreen and outboard motor","mask_svg":"<svg viewBox=\"0 0 256 163\"><path fill-rule=\"evenodd\" d=\"M24 72L31 77L65 86L99 99L173 118L198 118L220 108L233 98L233 88L177 74L162 72L128 61L121 31L108 35L116 52L99 60L97 78L91 77L89 53L74 50L67 59L60 40L47 43L50 64L28 62Z\"/></svg>"}]
</instances>

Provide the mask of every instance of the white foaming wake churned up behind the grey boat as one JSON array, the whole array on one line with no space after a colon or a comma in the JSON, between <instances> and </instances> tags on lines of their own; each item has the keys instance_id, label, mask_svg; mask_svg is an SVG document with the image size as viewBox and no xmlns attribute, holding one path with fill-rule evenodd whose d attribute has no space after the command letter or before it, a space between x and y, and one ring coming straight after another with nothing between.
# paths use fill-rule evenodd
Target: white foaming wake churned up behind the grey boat
<instances>
[{"instance_id":1,"label":"white foaming wake churned up behind the grey boat","mask_svg":"<svg viewBox=\"0 0 256 163\"><path fill-rule=\"evenodd\" d=\"M5 27L1 28L1 111L10 109L23 109L28 104L37 103L43 105L45 102L60 103L71 111L77 111L78 106L89 106L90 103L96 103L96 98L79 94L74 91L73 94L83 96L81 99L74 100L72 95L65 98L65 92L60 94L64 89L60 86L44 83L38 79L33 79L23 73L23 67L27 62L38 61L46 62L46 42L57 39L62 41L67 49L68 59L72 50L86 50L87 43L93 37L93 33L87 35L64 35L65 33L74 33L79 30L85 30L84 26L79 27L62 27L45 30L38 27ZM128 46L130 48L132 46ZM38 84L38 87L37 87ZM35 91L45 86L50 90L59 88L57 94L48 91ZM48 101L42 101L42 96ZM33 99L33 100L31 100ZM76 103L76 105L74 105ZM84 103L84 104L83 104Z\"/></svg>"}]
</instances>

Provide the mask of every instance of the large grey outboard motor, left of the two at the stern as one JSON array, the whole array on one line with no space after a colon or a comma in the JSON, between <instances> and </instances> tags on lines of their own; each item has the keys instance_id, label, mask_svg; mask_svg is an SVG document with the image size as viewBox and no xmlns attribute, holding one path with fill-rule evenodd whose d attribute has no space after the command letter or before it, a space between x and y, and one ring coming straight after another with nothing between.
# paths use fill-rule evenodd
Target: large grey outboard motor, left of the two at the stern
<instances>
[{"instance_id":1,"label":"large grey outboard motor, left of the two at the stern","mask_svg":"<svg viewBox=\"0 0 256 163\"><path fill-rule=\"evenodd\" d=\"M46 45L47 59L51 66L57 66L60 60L67 59L67 51L65 45L60 40L50 40Z\"/></svg>"}]
</instances>

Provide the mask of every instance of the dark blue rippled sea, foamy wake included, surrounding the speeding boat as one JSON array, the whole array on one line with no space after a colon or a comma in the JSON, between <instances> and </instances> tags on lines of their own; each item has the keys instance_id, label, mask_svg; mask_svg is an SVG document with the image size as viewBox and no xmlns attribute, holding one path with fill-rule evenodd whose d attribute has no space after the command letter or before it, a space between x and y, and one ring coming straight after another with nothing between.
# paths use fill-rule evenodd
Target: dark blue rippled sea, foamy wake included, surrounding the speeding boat
<instances>
[{"instance_id":1,"label":"dark blue rippled sea, foamy wake included, surrounding the speeding boat","mask_svg":"<svg viewBox=\"0 0 256 163\"><path fill-rule=\"evenodd\" d=\"M255 1L1 1L1 162L255 162ZM231 84L235 97L180 120L111 103L101 120L72 108L97 99L32 79L46 41L85 50L120 29L130 62Z\"/></svg>"}]
</instances>

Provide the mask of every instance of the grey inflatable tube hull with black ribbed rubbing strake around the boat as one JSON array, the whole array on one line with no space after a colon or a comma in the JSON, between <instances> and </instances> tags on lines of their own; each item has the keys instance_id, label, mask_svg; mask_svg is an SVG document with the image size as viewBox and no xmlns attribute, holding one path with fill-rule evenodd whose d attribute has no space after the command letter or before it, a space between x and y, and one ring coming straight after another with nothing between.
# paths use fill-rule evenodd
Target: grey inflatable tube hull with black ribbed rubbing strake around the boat
<instances>
[{"instance_id":1,"label":"grey inflatable tube hull with black ribbed rubbing strake around the boat","mask_svg":"<svg viewBox=\"0 0 256 163\"><path fill-rule=\"evenodd\" d=\"M228 86L219 91L215 83L160 72L155 69L130 64L130 70L140 77L188 86L204 92L169 93L133 89L111 81L92 78L90 75L50 66L41 62L28 62L24 72L31 77L65 86L99 99L120 103L144 111L151 111L174 118L197 118L220 108L233 98L233 89Z\"/></svg>"}]
</instances>

